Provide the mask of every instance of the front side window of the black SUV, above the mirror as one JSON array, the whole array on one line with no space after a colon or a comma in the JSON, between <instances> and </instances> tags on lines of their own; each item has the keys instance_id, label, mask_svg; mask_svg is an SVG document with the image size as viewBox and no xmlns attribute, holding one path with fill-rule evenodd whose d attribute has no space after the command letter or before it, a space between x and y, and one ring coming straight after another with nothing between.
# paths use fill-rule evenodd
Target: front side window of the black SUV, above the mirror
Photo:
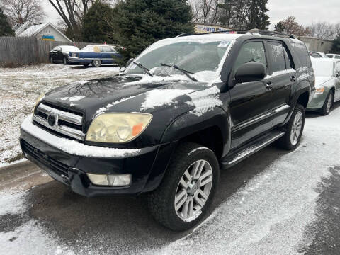
<instances>
[{"instance_id":1,"label":"front side window of the black SUV, above the mirror","mask_svg":"<svg viewBox=\"0 0 340 255\"><path fill-rule=\"evenodd\" d=\"M234 72L236 72L242 64L249 62L258 62L267 66L263 42L248 42L242 46L234 64Z\"/></svg>"}]
</instances>

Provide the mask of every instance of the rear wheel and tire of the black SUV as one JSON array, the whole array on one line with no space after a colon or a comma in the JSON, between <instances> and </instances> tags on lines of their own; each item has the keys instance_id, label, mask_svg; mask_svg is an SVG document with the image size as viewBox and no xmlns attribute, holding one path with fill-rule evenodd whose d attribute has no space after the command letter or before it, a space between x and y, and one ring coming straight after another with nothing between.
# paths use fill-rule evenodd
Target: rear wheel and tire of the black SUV
<instances>
[{"instance_id":1,"label":"rear wheel and tire of the black SUV","mask_svg":"<svg viewBox=\"0 0 340 255\"><path fill-rule=\"evenodd\" d=\"M277 145L282 149L295 149L300 145L303 128L305 127L305 107L296 104L295 109L290 116L290 120L285 124L285 135L281 137Z\"/></svg>"}]
</instances>

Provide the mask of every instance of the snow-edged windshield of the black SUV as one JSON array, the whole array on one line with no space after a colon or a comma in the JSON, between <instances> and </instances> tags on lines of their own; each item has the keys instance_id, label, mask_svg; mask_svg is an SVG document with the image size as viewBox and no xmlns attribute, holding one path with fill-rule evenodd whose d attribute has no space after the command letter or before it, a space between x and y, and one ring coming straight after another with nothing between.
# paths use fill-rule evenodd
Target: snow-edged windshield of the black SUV
<instances>
[{"instance_id":1,"label":"snow-edged windshield of the black SUV","mask_svg":"<svg viewBox=\"0 0 340 255\"><path fill-rule=\"evenodd\" d=\"M176 65L192 74L203 71L215 73L230 43L230 40L175 41L167 45L156 43L142 52L135 62L159 76L183 74L174 68L164 67L161 63ZM145 71L137 64L131 64L126 74L145 74Z\"/></svg>"}]
</instances>

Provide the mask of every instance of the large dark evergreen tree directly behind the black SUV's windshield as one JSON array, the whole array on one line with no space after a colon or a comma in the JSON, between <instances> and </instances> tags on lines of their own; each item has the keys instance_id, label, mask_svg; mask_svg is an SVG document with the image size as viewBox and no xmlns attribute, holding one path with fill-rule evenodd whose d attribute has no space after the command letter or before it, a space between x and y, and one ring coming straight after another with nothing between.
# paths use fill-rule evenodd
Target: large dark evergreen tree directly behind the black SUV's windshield
<instances>
[{"instance_id":1,"label":"large dark evergreen tree directly behind the black SUV's windshield","mask_svg":"<svg viewBox=\"0 0 340 255\"><path fill-rule=\"evenodd\" d=\"M193 32L186 0L122 1L111 19L109 35L122 46L119 51L125 62L157 40Z\"/></svg>"}]
</instances>

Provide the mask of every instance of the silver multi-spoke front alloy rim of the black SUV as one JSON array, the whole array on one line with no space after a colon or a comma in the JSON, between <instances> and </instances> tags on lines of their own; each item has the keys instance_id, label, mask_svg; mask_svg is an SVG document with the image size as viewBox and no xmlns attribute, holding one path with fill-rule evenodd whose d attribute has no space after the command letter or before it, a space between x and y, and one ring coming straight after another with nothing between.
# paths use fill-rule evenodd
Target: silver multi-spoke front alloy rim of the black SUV
<instances>
[{"instance_id":1,"label":"silver multi-spoke front alloy rim of the black SUV","mask_svg":"<svg viewBox=\"0 0 340 255\"><path fill-rule=\"evenodd\" d=\"M185 222L202 213L212 188L212 167L200 159L186 169L176 190L174 206L177 216Z\"/></svg>"}]
</instances>

